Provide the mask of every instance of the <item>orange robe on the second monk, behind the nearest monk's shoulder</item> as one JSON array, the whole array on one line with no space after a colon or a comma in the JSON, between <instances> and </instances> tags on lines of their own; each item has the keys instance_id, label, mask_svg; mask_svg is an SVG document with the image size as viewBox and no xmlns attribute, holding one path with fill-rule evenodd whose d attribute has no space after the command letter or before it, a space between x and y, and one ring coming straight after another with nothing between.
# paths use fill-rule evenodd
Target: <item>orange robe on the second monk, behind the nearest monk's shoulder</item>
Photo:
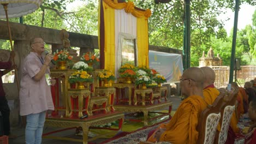
<instances>
[{"instance_id":1,"label":"orange robe on the second monk, behind the nearest monk's shoulder","mask_svg":"<svg viewBox=\"0 0 256 144\"><path fill-rule=\"evenodd\" d=\"M207 105L212 105L214 100L218 97L219 90L215 88L213 85L207 86L203 89L203 97L205 97L205 101ZM218 124L217 130L220 131L220 124Z\"/></svg>"}]
</instances>

